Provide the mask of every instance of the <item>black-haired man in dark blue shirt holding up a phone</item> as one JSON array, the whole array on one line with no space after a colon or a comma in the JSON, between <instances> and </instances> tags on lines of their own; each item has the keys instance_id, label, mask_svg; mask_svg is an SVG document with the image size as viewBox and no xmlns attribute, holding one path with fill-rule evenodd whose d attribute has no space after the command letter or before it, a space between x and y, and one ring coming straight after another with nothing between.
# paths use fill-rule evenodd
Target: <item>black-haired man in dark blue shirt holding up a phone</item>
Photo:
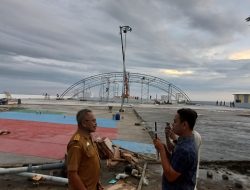
<instances>
[{"instance_id":1,"label":"black-haired man in dark blue shirt holding up a phone","mask_svg":"<svg viewBox=\"0 0 250 190\"><path fill-rule=\"evenodd\" d=\"M192 109L183 108L177 111L172 130L179 138L172 153L167 151L160 139L153 141L161 157L162 190L195 188L198 158L193 128L196 119L197 113Z\"/></svg>"}]
</instances>

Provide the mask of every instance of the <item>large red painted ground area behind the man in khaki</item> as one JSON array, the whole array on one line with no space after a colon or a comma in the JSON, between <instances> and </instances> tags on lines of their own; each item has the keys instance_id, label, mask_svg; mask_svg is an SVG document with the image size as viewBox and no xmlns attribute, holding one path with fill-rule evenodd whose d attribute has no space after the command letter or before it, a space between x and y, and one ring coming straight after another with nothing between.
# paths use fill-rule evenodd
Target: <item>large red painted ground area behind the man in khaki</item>
<instances>
[{"instance_id":1,"label":"large red painted ground area behind the man in khaki","mask_svg":"<svg viewBox=\"0 0 250 190\"><path fill-rule=\"evenodd\" d=\"M63 159L67 143L77 127L68 124L0 119L0 152ZM98 127L94 136L116 139L117 129Z\"/></svg>"}]
</instances>

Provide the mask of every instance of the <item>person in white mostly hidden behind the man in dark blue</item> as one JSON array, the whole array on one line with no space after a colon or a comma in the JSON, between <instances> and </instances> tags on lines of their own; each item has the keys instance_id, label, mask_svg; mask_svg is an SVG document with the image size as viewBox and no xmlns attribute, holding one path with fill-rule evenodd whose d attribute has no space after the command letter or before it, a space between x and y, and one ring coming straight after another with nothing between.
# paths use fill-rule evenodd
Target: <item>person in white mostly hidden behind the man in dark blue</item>
<instances>
[{"instance_id":1,"label":"person in white mostly hidden behind the man in dark blue","mask_svg":"<svg viewBox=\"0 0 250 190\"><path fill-rule=\"evenodd\" d=\"M196 190L197 179L199 177L200 147L201 147L201 144L202 144L202 139L201 139L201 135L196 130L193 130L193 136L194 136L196 152L198 153L197 154L198 162L197 162L197 170L196 170L196 185L195 185L195 190ZM173 132L172 128L166 127L165 128L165 137L166 137L166 142L167 142L168 149L170 151L173 151L173 148L174 148L175 144L177 143L178 136ZM168 139L172 139L174 144L168 145L168 143L171 143L171 141L169 141Z\"/></svg>"}]
</instances>

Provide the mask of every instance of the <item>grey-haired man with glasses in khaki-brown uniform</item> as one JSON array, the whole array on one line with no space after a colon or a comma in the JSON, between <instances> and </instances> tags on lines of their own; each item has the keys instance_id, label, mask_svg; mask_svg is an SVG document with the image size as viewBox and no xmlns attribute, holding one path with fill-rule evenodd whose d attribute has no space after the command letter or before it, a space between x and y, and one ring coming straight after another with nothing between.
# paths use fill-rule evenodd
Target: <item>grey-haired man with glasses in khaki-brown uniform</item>
<instances>
[{"instance_id":1,"label":"grey-haired man with glasses in khaki-brown uniform","mask_svg":"<svg viewBox=\"0 0 250 190\"><path fill-rule=\"evenodd\" d=\"M100 159L91 133L96 130L96 118L91 110L76 115L78 130L67 146L67 171L70 190L101 190Z\"/></svg>"}]
</instances>

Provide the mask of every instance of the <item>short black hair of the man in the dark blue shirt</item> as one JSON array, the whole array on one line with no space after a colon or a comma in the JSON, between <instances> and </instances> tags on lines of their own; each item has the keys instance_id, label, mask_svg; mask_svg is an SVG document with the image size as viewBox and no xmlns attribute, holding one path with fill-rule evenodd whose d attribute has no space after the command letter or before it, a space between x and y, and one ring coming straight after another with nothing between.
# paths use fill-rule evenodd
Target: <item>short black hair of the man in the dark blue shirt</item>
<instances>
[{"instance_id":1,"label":"short black hair of the man in the dark blue shirt","mask_svg":"<svg viewBox=\"0 0 250 190\"><path fill-rule=\"evenodd\" d=\"M191 130L193 130L195 122L196 122L196 119L198 117L197 112L194 111L194 110L192 110L192 109L190 109L190 108L182 108L182 109L179 109L177 111L177 113L180 116L181 122L184 122L184 121L188 122L189 128Z\"/></svg>"}]
</instances>

